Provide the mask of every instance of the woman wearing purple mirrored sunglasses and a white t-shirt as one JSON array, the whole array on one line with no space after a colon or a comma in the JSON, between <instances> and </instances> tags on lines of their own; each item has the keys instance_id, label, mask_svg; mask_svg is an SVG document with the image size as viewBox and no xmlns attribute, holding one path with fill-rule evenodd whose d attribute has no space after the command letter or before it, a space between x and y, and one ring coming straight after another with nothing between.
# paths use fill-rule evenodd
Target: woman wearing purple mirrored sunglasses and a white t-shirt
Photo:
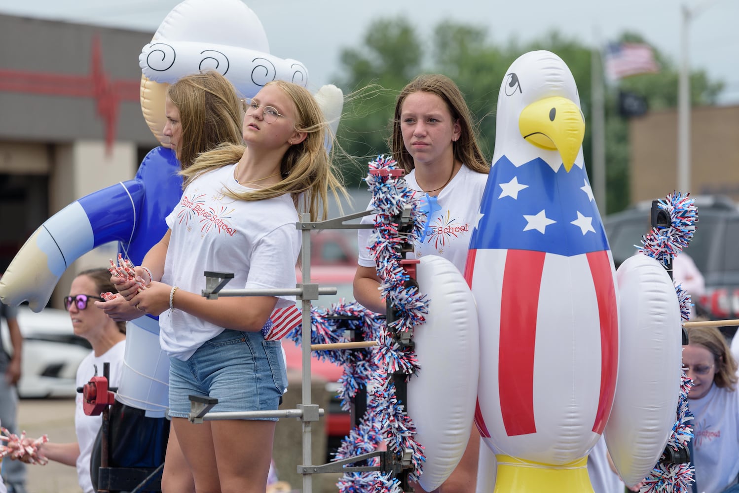
<instances>
[{"instance_id":1,"label":"woman wearing purple mirrored sunglasses and a white t-shirt","mask_svg":"<svg viewBox=\"0 0 739 493\"><path fill-rule=\"evenodd\" d=\"M80 272L75 280L72 280L69 295L64 298L64 308L67 308L72 319L75 335L87 339L92 345L92 351L77 368L77 387L84 386L92 376L95 376L95 365L98 367L98 375L102 375L105 362L110 363L109 385L118 387L123 371L123 354L126 350L126 325L123 322L115 322L92 303L93 300L102 300L101 293L111 292L113 289L108 269L89 269ZM67 466L77 466L77 477L82 491L93 493L95 490L92 487L90 455L101 427L102 416L87 416L82 401L83 396L78 393L75 399L76 442L68 444L47 442L38 446L35 455L24 455L20 460L29 463L30 459L35 460L41 456ZM25 439L26 444L33 441L33 438Z\"/></svg>"}]
</instances>

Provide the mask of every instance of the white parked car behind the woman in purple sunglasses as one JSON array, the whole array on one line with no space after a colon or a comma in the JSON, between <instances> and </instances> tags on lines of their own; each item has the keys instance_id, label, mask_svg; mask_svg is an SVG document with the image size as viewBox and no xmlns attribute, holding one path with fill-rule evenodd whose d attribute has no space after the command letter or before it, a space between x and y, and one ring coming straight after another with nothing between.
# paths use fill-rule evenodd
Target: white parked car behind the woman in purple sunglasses
<instances>
[{"instance_id":1,"label":"white parked car behind the woman in purple sunglasses","mask_svg":"<svg viewBox=\"0 0 739 493\"><path fill-rule=\"evenodd\" d=\"M18 325L23 335L23 373L18 396L74 397L77 368L91 346L86 339L75 336L67 311L44 308L34 313L28 306L19 306ZM0 333L3 347L12 350L5 320Z\"/></svg>"}]
</instances>

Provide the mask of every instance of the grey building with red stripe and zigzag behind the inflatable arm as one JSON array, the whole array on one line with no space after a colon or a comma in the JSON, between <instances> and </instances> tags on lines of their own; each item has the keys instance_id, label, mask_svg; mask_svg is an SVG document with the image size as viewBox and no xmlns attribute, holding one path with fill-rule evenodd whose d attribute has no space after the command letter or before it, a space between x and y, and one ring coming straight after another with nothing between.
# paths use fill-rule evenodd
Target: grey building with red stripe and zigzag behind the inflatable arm
<instances>
[{"instance_id":1,"label":"grey building with red stripe and zigzag behind the inflatable arm","mask_svg":"<svg viewBox=\"0 0 739 493\"><path fill-rule=\"evenodd\" d=\"M0 15L0 273L47 218L132 179L158 145L143 119L138 55L152 32ZM115 246L67 269L105 266Z\"/></svg>"}]
</instances>

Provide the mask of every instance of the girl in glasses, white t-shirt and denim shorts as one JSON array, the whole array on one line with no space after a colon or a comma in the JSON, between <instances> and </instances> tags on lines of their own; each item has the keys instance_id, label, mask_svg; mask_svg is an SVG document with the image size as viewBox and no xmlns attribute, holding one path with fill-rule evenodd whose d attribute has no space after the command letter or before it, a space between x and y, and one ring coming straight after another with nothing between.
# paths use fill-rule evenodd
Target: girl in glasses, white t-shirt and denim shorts
<instances>
[{"instance_id":1,"label":"girl in glasses, white t-shirt and denim shorts","mask_svg":"<svg viewBox=\"0 0 739 493\"><path fill-rule=\"evenodd\" d=\"M230 289L296 285L298 211L315 220L327 190L343 190L324 147L327 123L306 89L270 82L243 100L246 147L221 145L182 172L185 191L169 230L136 267L147 286L115 277L132 306L160 314L170 356L169 414L197 491L266 489L276 418L191 424L188 395L213 412L276 410L286 386L279 341L262 326L287 296L202 297L204 271L231 272Z\"/></svg>"}]
</instances>

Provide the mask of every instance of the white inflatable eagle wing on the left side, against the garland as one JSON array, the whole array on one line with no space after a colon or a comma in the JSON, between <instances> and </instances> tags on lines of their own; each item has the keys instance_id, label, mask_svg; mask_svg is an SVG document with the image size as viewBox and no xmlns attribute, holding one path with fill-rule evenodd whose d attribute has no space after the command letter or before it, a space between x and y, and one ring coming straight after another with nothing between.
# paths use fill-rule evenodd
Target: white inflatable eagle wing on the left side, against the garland
<instances>
[{"instance_id":1,"label":"white inflatable eagle wing on the left side, against the garland","mask_svg":"<svg viewBox=\"0 0 739 493\"><path fill-rule=\"evenodd\" d=\"M425 447L419 483L431 492L449 478L467 447L480 347L474 298L454 264L426 255L416 279L430 301L426 323L413 336L420 371L408 382L408 416Z\"/></svg>"}]
</instances>

